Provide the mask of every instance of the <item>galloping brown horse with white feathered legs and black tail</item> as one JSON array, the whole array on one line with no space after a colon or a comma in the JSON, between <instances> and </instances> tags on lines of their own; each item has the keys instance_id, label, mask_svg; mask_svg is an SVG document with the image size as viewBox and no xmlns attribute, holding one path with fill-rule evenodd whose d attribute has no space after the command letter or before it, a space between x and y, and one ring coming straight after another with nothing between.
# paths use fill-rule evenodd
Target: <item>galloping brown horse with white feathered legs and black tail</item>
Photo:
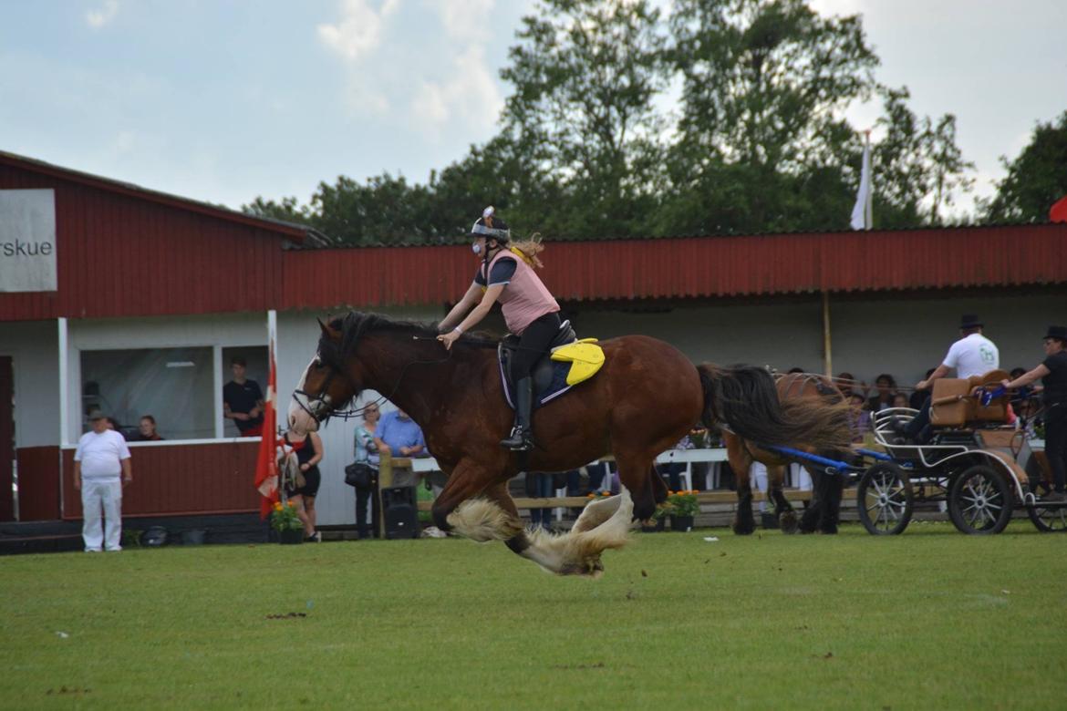
<instances>
[{"instance_id":1,"label":"galloping brown horse with white feathered legs and black tail","mask_svg":"<svg viewBox=\"0 0 1067 711\"><path fill-rule=\"evenodd\" d=\"M595 376L534 415L537 447L499 446L512 423L495 342L465 335L446 351L432 325L349 313L322 326L318 353L293 392L289 425L314 430L365 388L383 393L423 427L448 475L434 523L475 540L504 540L558 573L596 575L601 552L626 542L636 519L652 516L667 491L653 460L698 421L729 424L746 439L829 447L847 430L832 410L807 400L780 404L759 368L695 367L673 346L627 336L601 343ZM521 469L566 471L612 453L623 489L590 504L564 535L524 530L507 482Z\"/></svg>"}]
</instances>

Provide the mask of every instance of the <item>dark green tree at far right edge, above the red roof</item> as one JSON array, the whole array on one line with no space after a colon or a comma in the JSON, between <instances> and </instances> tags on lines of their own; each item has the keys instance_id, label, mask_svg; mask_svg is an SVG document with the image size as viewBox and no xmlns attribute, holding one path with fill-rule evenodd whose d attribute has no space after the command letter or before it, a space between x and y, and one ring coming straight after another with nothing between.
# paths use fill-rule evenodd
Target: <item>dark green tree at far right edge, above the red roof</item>
<instances>
[{"instance_id":1,"label":"dark green tree at far right edge, above the red roof","mask_svg":"<svg viewBox=\"0 0 1067 711\"><path fill-rule=\"evenodd\" d=\"M1055 122L1038 123L1030 144L1008 162L997 195L981 204L990 222L1045 222L1049 208L1067 195L1067 111Z\"/></svg>"}]
</instances>

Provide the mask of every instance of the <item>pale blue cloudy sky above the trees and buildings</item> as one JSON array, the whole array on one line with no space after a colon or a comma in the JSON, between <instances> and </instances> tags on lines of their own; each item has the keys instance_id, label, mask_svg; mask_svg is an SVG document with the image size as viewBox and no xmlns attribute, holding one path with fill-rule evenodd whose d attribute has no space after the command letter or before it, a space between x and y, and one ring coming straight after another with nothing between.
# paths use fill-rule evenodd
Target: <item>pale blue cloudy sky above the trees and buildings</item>
<instances>
[{"instance_id":1,"label":"pale blue cloudy sky above the trees and buildings","mask_svg":"<svg viewBox=\"0 0 1067 711\"><path fill-rule=\"evenodd\" d=\"M913 111L956 114L980 195L1067 110L1067 0L812 4L863 15L878 79L906 84ZM233 208L305 203L338 175L426 182L494 135L532 6L0 0L0 150ZM858 128L874 109L850 112Z\"/></svg>"}]
</instances>

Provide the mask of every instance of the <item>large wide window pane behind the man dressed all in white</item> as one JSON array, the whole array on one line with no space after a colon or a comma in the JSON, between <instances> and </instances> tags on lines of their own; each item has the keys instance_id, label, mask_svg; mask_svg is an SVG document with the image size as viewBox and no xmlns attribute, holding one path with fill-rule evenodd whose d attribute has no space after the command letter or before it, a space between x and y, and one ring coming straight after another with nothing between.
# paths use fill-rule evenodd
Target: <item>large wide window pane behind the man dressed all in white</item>
<instances>
[{"instance_id":1,"label":"large wide window pane behind the man dressed all in white","mask_svg":"<svg viewBox=\"0 0 1067 711\"><path fill-rule=\"evenodd\" d=\"M214 437L210 346L82 351L81 392L83 432L89 413L99 408L127 438L143 415L156 418L164 439Z\"/></svg>"}]
</instances>

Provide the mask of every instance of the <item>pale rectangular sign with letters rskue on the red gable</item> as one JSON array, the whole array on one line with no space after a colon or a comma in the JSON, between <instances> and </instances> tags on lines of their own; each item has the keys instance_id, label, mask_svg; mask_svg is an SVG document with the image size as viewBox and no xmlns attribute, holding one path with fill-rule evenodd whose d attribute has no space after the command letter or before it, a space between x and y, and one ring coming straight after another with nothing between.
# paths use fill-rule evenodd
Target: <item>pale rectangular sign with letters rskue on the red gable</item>
<instances>
[{"instance_id":1,"label":"pale rectangular sign with letters rskue on the red gable","mask_svg":"<svg viewBox=\"0 0 1067 711\"><path fill-rule=\"evenodd\" d=\"M55 291L55 192L0 190L0 292Z\"/></svg>"}]
</instances>

